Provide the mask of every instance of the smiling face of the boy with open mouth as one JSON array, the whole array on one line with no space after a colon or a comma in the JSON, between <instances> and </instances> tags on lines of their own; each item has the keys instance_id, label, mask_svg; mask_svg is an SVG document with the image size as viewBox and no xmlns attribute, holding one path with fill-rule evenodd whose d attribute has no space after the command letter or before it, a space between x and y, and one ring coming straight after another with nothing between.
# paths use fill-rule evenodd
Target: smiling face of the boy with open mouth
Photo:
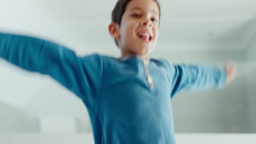
<instances>
[{"instance_id":1,"label":"smiling face of the boy with open mouth","mask_svg":"<svg viewBox=\"0 0 256 144\"><path fill-rule=\"evenodd\" d=\"M119 29L122 55L149 57L158 41L159 8L153 0L133 0L127 4Z\"/></svg>"}]
</instances>

